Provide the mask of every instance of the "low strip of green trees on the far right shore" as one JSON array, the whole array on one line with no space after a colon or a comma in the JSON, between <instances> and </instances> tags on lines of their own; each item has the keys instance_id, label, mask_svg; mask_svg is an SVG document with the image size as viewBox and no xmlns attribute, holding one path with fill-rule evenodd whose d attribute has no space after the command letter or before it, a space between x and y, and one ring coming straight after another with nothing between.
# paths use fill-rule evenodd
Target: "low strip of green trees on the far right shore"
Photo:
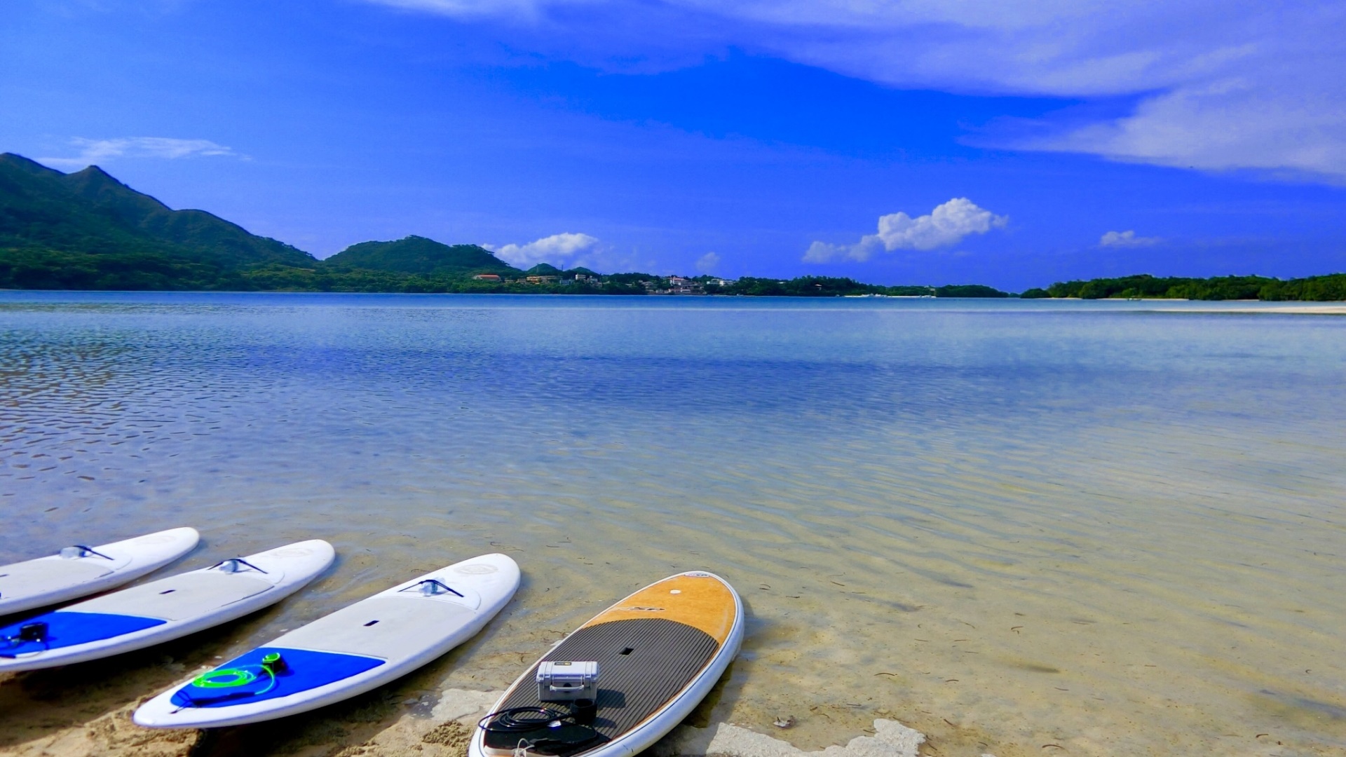
<instances>
[{"instance_id":1,"label":"low strip of green trees on the far right shore","mask_svg":"<svg viewBox=\"0 0 1346 757\"><path fill-rule=\"evenodd\" d=\"M1215 276L1184 279L1178 276L1123 276L1088 282L1058 282L1040 290L1027 290L1020 298L1079 299L1263 299L1263 300L1346 300L1346 273L1308 276L1304 279L1269 279L1265 276Z\"/></svg>"}]
</instances>

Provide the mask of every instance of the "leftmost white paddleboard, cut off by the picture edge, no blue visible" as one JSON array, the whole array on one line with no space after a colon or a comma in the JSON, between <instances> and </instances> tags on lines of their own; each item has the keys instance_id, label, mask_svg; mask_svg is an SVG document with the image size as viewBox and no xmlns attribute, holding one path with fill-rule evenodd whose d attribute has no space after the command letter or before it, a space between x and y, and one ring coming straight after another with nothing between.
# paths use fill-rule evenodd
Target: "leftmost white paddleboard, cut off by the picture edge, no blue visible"
<instances>
[{"instance_id":1,"label":"leftmost white paddleboard, cut off by the picture edge, no blue visible","mask_svg":"<svg viewBox=\"0 0 1346 757\"><path fill-rule=\"evenodd\" d=\"M186 555L198 541L201 535L195 528L171 528L97 547L66 547L55 555L0 566L0 616L121 586Z\"/></svg>"}]
</instances>

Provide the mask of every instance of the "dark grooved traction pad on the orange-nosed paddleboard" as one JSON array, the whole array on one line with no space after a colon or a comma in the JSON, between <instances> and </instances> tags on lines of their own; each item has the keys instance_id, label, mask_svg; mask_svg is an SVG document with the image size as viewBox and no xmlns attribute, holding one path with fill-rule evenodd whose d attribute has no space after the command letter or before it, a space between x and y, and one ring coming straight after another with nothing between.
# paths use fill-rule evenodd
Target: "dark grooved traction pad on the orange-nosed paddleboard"
<instances>
[{"instance_id":1,"label":"dark grooved traction pad on the orange-nosed paddleboard","mask_svg":"<svg viewBox=\"0 0 1346 757\"><path fill-rule=\"evenodd\" d=\"M581 628L538 664L548 660L598 661L598 717L592 727L616 739L662 710L692 683L719 648L720 643L699 628L666 618L631 618ZM564 703L538 700L537 684L533 683L536 675L537 665L533 665L499 709L551 707L567 711ZM486 746L491 749L513 749L516 744L517 738L509 734L486 733Z\"/></svg>"}]
</instances>

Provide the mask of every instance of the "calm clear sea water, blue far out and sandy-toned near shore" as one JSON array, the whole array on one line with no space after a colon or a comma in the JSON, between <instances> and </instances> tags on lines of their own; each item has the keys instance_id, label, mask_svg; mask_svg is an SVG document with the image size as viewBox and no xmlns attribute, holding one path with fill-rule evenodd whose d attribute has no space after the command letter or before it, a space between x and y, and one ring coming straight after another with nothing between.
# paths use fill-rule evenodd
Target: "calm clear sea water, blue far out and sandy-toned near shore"
<instances>
[{"instance_id":1,"label":"calm clear sea water, blue far out and sandy-toned near shore","mask_svg":"<svg viewBox=\"0 0 1346 757\"><path fill-rule=\"evenodd\" d=\"M506 551L476 687L708 568L801 746L1346 753L1346 318L1164 307L0 292L0 563L332 541L227 655Z\"/></svg>"}]
</instances>

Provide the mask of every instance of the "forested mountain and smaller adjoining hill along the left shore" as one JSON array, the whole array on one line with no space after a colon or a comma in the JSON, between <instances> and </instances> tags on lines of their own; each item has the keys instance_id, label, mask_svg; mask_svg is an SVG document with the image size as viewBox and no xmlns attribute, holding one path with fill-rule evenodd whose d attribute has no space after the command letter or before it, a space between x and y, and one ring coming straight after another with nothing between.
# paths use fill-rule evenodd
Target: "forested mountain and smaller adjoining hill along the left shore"
<instances>
[{"instance_id":1,"label":"forested mountain and smaller adjoining hill along the left shore","mask_svg":"<svg viewBox=\"0 0 1346 757\"><path fill-rule=\"evenodd\" d=\"M0 288L474 291L522 272L478 245L362 242L328 260L203 210L174 210L90 166L0 155Z\"/></svg>"}]
</instances>

